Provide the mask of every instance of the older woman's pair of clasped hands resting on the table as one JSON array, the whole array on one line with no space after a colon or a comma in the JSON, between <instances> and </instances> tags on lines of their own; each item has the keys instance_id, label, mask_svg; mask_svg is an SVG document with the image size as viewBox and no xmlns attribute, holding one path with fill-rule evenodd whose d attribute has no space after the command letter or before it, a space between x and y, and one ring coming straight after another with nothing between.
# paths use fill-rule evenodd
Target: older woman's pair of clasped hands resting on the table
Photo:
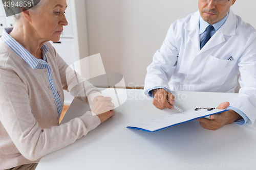
<instances>
[{"instance_id":1,"label":"older woman's pair of clasped hands resting on the table","mask_svg":"<svg viewBox=\"0 0 256 170\"><path fill-rule=\"evenodd\" d=\"M115 105L111 101L112 99L110 97L103 96L100 98L94 98L93 100L91 111L100 118L101 123L115 115L113 110Z\"/></svg>"}]
</instances>

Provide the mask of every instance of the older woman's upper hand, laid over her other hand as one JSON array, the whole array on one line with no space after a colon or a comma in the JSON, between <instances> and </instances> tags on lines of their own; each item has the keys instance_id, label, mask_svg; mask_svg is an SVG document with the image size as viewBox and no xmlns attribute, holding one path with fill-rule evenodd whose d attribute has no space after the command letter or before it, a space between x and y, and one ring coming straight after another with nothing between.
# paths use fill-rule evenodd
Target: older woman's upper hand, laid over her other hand
<instances>
[{"instance_id":1,"label":"older woman's upper hand, laid over her other hand","mask_svg":"<svg viewBox=\"0 0 256 170\"><path fill-rule=\"evenodd\" d=\"M91 110L97 115L113 110L115 105L111 101L110 97L97 96L93 99Z\"/></svg>"}]
</instances>

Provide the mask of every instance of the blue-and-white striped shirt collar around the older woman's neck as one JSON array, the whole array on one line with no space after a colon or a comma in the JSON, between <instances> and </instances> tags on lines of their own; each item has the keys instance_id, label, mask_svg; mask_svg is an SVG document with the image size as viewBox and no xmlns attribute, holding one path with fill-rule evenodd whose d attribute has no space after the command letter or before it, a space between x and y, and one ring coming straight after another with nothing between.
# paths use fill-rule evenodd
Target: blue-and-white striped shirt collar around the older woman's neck
<instances>
[{"instance_id":1,"label":"blue-and-white striped shirt collar around the older woman's neck","mask_svg":"<svg viewBox=\"0 0 256 170\"><path fill-rule=\"evenodd\" d=\"M13 39L9 33L12 32L12 28L5 28L2 35L2 40L12 48L12 50L17 53L21 58L23 58L32 69L35 69L39 63L44 63L42 60L35 58L31 53L29 53L24 46L18 43L15 39ZM42 57L45 61L47 61L46 54L49 52L49 48L46 44L42 44Z\"/></svg>"}]
</instances>

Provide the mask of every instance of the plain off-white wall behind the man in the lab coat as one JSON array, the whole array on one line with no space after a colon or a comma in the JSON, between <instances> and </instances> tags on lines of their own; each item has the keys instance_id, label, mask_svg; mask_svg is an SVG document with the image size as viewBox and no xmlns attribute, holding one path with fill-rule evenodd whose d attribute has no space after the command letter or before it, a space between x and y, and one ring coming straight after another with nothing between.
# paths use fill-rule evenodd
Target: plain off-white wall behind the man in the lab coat
<instances>
[{"instance_id":1,"label":"plain off-white wall behind the man in the lab coat","mask_svg":"<svg viewBox=\"0 0 256 170\"><path fill-rule=\"evenodd\" d=\"M101 54L106 72L120 72L126 86L143 86L146 67L172 22L198 10L198 0L86 0L89 54ZM231 9L256 28L255 0Z\"/></svg>"}]
</instances>

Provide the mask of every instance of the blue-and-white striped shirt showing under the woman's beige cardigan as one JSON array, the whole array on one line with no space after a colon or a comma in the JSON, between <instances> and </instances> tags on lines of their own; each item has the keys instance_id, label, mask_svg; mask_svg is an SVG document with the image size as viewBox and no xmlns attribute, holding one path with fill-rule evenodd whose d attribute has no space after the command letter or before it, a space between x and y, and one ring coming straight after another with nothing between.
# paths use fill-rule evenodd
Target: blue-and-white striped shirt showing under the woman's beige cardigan
<instances>
[{"instance_id":1,"label":"blue-and-white striped shirt showing under the woman's beige cardigan","mask_svg":"<svg viewBox=\"0 0 256 170\"><path fill-rule=\"evenodd\" d=\"M21 44L19 44L15 39L13 39L9 33L12 32L13 28L6 28L2 35L2 40L12 48L12 50L17 53L20 57L22 57L32 69L47 69L47 78L49 81L49 86L52 90L55 104L58 111L58 116L60 117L61 111L62 111L62 101L60 99L60 95L56 89L56 86L53 82L53 76L51 67L47 62L47 53L49 52L49 49L46 44L42 44L41 51L42 51L42 58L37 59L32 54L30 54L26 48L24 48Z\"/></svg>"}]
</instances>

